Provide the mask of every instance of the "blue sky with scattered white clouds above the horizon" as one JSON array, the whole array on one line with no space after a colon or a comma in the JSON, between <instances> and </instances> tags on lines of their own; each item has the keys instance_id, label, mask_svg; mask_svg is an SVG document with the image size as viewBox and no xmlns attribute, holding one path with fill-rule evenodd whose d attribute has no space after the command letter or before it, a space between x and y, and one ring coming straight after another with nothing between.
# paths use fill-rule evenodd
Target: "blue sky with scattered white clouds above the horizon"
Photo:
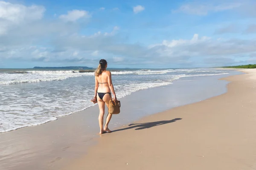
<instances>
[{"instance_id":1,"label":"blue sky with scattered white clouds above the horizon","mask_svg":"<svg viewBox=\"0 0 256 170\"><path fill-rule=\"evenodd\" d=\"M256 63L254 0L0 0L0 68Z\"/></svg>"}]
</instances>

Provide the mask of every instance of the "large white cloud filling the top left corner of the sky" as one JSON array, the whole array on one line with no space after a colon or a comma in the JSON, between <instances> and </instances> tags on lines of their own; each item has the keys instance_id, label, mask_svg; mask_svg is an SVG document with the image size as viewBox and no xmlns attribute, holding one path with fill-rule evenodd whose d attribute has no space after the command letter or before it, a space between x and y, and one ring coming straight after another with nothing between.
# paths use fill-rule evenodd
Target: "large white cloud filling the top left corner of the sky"
<instances>
[{"instance_id":1,"label":"large white cloud filling the top left corner of the sky","mask_svg":"<svg viewBox=\"0 0 256 170\"><path fill-rule=\"evenodd\" d=\"M24 6L0 1L0 34L6 34L9 28L18 24L41 20L44 11L43 6Z\"/></svg>"}]
</instances>

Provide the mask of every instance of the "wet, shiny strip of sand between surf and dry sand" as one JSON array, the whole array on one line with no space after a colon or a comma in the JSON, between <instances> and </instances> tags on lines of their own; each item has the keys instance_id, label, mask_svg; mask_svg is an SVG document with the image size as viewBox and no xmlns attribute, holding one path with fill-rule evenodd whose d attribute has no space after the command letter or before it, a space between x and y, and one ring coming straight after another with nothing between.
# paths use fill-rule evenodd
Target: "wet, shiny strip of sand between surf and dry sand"
<instances>
[{"instance_id":1,"label":"wet, shiny strip of sand between surf and dry sand","mask_svg":"<svg viewBox=\"0 0 256 170\"><path fill-rule=\"evenodd\" d=\"M223 94L228 82L217 79L236 74L241 72L185 77L172 85L132 93L121 99L122 113L113 116L110 128L118 129L148 115ZM152 96L154 99L148 100ZM62 170L73 164L101 141L97 140L98 115L98 106L93 106L46 124L0 133L0 170Z\"/></svg>"}]
</instances>

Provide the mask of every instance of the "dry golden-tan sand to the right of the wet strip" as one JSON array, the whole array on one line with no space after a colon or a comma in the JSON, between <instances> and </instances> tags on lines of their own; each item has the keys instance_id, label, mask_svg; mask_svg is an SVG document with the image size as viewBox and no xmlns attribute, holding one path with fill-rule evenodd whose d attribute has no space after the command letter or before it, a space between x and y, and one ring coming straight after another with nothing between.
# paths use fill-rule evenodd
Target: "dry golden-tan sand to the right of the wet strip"
<instances>
[{"instance_id":1,"label":"dry golden-tan sand to the right of the wet strip","mask_svg":"<svg viewBox=\"0 0 256 170\"><path fill-rule=\"evenodd\" d=\"M63 170L256 170L256 69L220 96L103 134Z\"/></svg>"}]
</instances>

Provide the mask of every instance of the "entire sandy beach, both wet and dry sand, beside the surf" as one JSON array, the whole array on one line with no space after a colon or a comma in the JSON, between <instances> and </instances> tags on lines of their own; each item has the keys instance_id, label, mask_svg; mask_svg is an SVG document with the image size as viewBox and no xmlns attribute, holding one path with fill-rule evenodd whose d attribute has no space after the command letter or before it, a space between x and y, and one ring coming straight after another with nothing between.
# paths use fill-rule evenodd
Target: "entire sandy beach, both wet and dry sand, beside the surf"
<instances>
[{"instance_id":1,"label":"entire sandy beach, both wet and dry sand, beside the surf","mask_svg":"<svg viewBox=\"0 0 256 170\"><path fill-rule=\"evenodd\" d=\"M113 133L98 134L97 106L0 133L0 169L249 170L256 159L255 74L184 77L132 93L111 120Z\"/></svg>"}]
</instances>

